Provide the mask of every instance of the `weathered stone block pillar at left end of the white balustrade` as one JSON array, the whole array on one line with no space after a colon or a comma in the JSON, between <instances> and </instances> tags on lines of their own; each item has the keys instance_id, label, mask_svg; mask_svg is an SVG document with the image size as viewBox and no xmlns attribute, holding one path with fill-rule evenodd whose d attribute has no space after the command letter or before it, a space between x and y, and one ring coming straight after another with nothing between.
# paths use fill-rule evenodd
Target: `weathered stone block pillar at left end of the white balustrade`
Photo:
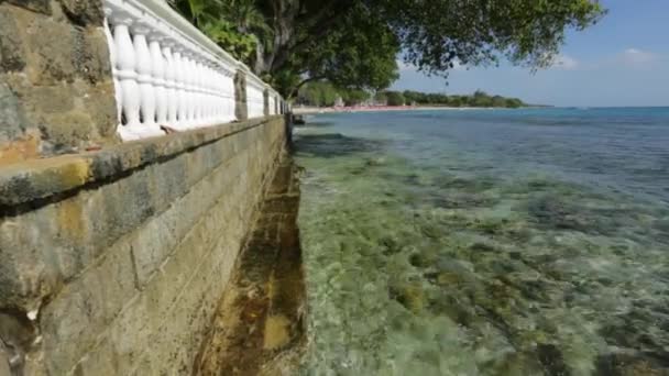
<instances>
[{"instance_id":1,"label":"weathered stone block pillar at left end of the white balustrade","mask_svg":"<svg viewBox=\"0 0 669 376\"><path fill-rule=\"evenodd\" d=\"M101 1L0 0L0 165L116 143Z\"/></svg>"}]
</instances>

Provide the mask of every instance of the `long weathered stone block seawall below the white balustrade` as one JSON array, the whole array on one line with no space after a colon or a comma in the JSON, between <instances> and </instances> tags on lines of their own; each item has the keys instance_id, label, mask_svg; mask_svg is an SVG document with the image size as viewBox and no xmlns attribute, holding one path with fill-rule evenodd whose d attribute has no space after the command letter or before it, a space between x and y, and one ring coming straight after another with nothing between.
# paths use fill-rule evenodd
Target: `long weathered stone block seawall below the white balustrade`
<instances>
[{"instance_id":1,"label":"long weathered stone block seawall below the white balustrade","mask_svg":"<svg viewBox=\"0 0 669 376\"><path fill-rule=\"evenodd\" d=\"M0 372L190 374L285 132L273 117L0 167Z\"/></svg>"}]
</instances>

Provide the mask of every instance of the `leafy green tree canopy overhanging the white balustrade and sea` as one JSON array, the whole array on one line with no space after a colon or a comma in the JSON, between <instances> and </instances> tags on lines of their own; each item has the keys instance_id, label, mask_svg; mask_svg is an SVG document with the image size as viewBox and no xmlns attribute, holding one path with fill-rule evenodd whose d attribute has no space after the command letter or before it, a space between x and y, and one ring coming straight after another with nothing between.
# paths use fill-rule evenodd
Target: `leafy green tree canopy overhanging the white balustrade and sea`
<instances>
[{"instance_id":1,"label":"leafy green tree canopy overhanging the white balustrade and sea","mask_svg":"<svg viewBox=\"0 0 669 376\"><path fill-rule=\"evenodd\" d=\"M428 74L502 57L551 64L567 29L604 10L596 0L169 0L224 49L295 95L309 80L377 90L396 56Z\"/></svg>"}]
</instances>

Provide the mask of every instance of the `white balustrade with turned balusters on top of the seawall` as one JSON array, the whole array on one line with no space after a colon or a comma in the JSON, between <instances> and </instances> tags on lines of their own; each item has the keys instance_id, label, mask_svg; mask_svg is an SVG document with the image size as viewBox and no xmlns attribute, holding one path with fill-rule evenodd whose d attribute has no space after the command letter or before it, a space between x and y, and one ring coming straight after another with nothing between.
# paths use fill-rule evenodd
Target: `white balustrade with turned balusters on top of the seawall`
<instances>
[{"instance_id":1,"label":"white balustrade with turned balusters on top of the seawall","mask_svg":"<svg viewBox=\"0 0 669 376\"><path fill-rule=\"evenodd\" d=\"M246 77L248 118L265 115L265 91L267 114L283 113L272 88L165 1L105 0L105 13L122 140L242 120L235 117L238 73ZM279 110L272 104L277 100Z\"/></svg>"}]
</instances>

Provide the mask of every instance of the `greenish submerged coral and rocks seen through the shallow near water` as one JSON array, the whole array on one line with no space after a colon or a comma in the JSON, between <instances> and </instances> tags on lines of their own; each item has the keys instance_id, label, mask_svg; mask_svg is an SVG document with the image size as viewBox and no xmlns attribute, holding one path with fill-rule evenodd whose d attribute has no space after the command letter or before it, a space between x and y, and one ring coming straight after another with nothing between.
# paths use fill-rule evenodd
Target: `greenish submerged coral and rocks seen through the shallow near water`
<instances>
[{"instance_id":1,"label":"greenish submerged coral and rocks seen through the shallow near water","mask_svg":"<svg viewBox=\"0 0 669 376\"><path fill-rule=\"evenodd\" d=\"M297 140L305 374L669 372L656 207L550 177L445 174L372 141L338 151L348 136L320 137L321 155L318 139Z\"/></svg>"}]
</instances>

